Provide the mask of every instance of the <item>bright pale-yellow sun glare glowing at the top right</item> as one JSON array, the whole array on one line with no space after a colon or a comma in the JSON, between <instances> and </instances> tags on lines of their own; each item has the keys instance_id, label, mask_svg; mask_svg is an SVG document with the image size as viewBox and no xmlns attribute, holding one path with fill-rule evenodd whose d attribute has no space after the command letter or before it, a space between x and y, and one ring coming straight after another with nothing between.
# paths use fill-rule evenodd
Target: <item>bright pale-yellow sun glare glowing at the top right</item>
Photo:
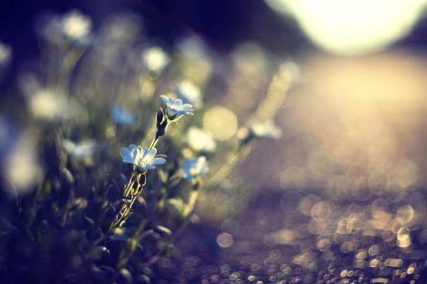
<instances>
[{"instance_id":1,"label":"bright pale-yellow sun glare glowing at the top right","mask_svg":"<svg viewBox=\"0 0 427 284\"><path fill-rule=\"evenodd\" d=\"M295 17L315 45L337 54L364 54L404 37L421 17L426 0L265 0Z\"/></svg>"}]
</instances>

